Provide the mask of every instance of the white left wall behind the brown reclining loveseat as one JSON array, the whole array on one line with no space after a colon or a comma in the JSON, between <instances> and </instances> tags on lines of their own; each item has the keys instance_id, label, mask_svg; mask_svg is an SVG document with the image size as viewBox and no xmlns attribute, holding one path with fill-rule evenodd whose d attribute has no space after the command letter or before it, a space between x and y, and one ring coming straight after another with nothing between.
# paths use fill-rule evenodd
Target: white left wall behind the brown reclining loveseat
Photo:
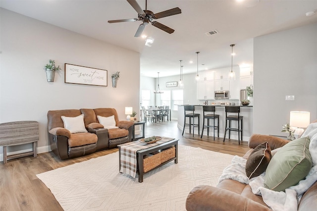
<instances>
[{"instance_id":1,"label":"white left wall behind the brown reclining loveseat","mask_svg":"<svg viewBox=\"0 0 317 211\"><path fill-rule=\"evenodd\" d=\"M39 122L39 152L48 150L48 110L125 106L139 108L140 54L1 8L0 123ZM43 67L54 59L62 70L47 82ZM64 83L64 63L108 70L108 86ZM117 88L111 74L120 71ZM30 149L11 147L8 152ZM2 154L2 148L0 149Z\"/></svg>"}]
</instances>

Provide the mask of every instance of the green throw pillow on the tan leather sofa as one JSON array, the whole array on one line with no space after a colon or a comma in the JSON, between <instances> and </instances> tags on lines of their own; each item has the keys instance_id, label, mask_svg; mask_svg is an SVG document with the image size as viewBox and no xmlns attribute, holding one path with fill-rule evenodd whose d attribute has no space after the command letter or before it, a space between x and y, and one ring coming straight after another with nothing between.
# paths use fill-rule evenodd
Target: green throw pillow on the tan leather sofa
<instances>
[{"instance_id":1,"label":"green throw pillow on the tan leather sofa","mask_svg":"<svg viewBox=\"0 0 317 211\"><path fill-rule=\"evenodd\" d=\"M309 137L303 137L277 151L267 165L264 187L273 191L285 191L304 179L312 168L309 143Z\"/></svg>"}]
</instances>

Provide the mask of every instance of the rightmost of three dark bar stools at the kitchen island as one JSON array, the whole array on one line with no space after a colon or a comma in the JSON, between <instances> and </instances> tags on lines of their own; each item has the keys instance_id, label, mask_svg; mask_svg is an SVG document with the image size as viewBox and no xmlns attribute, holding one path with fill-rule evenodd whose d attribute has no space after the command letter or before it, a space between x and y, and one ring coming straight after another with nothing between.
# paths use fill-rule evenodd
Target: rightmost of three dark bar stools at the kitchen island
<instances>
[{"instance_id":1,"label":"rightmost of three dark bar stools at the kitchen island","mask_svg":"<svg viewBox=\"0 0 317 211\"><path fill-rule=\"evenodd\" d=\"M240 131L241 131L241 141L242 141L242 131L243 131L243 116L240 116L240 106L225 106L226 112L226 126L224 130L223 142L226 138L226 132L229 130L229 139L231 130L238 131L238 140L240 144ZM238 115L227 115L227 113L238 113ZM227 122L229 120L229 127L227 127ZM231 121L238 121L238 128L231 128ZM241 128L240 128L240 120L241 120Z\"/></svg>"}]
</instances>

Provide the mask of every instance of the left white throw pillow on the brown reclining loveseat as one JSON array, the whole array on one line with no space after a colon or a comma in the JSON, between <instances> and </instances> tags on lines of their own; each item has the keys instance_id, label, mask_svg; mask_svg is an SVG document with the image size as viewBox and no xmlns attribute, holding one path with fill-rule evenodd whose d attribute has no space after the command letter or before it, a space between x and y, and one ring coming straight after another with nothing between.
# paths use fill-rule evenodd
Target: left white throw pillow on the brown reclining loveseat
<instances>
[{"instance_id":1,"label":"left white throw pillow on the brown reclining loveseat","mask_svg":"<svg viewBox=\"0 0 317 211\"><path fill-rule=\"evenodd\" d=\"M84 114L76 117L61 116L64 122L64 128L69 130L71 133L87 133L84 123Z\"/></svg>"}]
</instances>

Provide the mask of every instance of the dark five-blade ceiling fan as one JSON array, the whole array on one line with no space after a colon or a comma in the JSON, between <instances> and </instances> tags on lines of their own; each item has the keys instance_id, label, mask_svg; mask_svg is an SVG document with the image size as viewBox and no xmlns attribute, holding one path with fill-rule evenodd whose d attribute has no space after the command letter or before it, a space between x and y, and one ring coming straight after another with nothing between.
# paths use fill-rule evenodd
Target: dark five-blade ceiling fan
<instances>
[{"instance_id":1,"label":"dark five-blade ceiling fan","mask_svg":"<svg viewBox=\"0 0 317 211\"><path fill-rule=\"evenodd\" d=\"M147 10L147 0L145 1L145 10L142 10L142 8L139 6L138 2L136 0L127 0L131 6L138 12L138 18L134 19L121 19L121 20L108 20L108 23L118 23L118 22L133 22L133 21L138 21L141 20L143 23L139 26L137 32L135 33L134 37L140 37L145 26L148 25L150 22L153 26L171 34L175 30L171 29L157 21L152 21L153 19L159 19L162 17L167 17L171 15L176 15L179 13L182 13L182 10L178 7L168 9L159 13L153 13L150 10Z\"/></svg>"}]
</instances>

